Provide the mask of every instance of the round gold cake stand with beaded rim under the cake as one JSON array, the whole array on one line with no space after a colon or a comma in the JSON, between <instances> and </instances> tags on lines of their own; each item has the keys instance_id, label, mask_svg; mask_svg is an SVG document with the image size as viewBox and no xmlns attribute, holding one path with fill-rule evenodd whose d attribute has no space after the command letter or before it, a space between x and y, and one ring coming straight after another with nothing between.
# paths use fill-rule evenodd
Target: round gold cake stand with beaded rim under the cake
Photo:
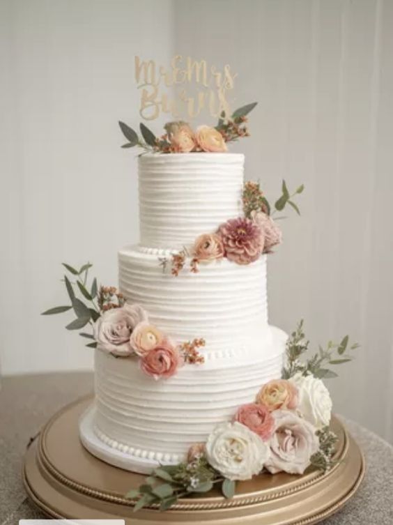
<instances>
[{"instance_id":1,"label":"round gold cake stand with beaded rim under the cake","mask_svg":"<svg viewBox=\"0 0 393 525\"><path fill-rule=\"evenodd\" d=\"M337 418L337 464L322 474L261 474L238 482L236 496L224 499L219 490L180 499L165 512L144 508L133 512L124 494L141 485L144 475L102 462L79 440L78 422L91 397L66 406L45 425L26 452L24 485L46 515L57 519L125 519L127 525L171 524L309 525L339 510L355 494L364 476L360 448Z\"/></svg>"}]
</instances>

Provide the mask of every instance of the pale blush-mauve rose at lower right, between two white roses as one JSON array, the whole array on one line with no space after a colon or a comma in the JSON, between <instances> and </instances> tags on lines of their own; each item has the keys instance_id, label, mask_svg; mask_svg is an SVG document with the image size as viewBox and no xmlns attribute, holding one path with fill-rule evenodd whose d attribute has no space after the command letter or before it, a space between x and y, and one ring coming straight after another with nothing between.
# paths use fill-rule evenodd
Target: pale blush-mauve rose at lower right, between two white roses
<instances>
[{"instance_id":1,"label":"pale blush-mauve rose at lower right, between two white roses","mask_svg":"<svg viewBox=\"0 0 393 525\"><path fill-rule=\"evenodd\" d=\"M288 410L276 410L275 431L270 439L270 458L265 468L275 474L280 471L302 474L318 452L319 439L315 428L305 419Z\"/></svg>"}]
</instances>

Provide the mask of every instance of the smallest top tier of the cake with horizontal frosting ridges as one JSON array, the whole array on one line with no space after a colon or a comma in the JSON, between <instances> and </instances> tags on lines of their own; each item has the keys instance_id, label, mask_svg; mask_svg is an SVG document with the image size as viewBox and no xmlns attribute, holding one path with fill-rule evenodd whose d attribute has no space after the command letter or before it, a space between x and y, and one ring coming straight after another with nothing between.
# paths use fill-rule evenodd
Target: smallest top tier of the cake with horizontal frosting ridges
<instances>
[{"instance_id":1,"label":"smallest top tier of the cake with horizontal frosting ridges","mask_svg":"<svg viewBox=\"0 0 393 525\"><path fill-rule=\"evenodd\" d=\"M148 154L139 158L141 245L189 246L241 214L244 155Z\"/></svg>"}]
</instances>

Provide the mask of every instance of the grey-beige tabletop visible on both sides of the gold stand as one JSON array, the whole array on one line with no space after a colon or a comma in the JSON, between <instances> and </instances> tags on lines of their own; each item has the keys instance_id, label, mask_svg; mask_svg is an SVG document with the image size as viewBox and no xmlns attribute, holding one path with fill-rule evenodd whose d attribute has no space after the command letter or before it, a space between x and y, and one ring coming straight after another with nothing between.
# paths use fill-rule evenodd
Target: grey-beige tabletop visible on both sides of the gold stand
<instances>
[{"instance_id":1,"label":"grey-beige tabletop visible on both sides of the gold stand","mask_svg":"<svg viewBox=\"0 0 393 525\"><path fill-rule=\"evenodd\" d=\"M13 376L0 390L0 525L45 516L22 485L26 444L52 413L93 390L89 372ZM393 447L357 423L345 420L360 444L367 473L357 494L324 525L393 525Z\"/></svg>"}]
</instances>

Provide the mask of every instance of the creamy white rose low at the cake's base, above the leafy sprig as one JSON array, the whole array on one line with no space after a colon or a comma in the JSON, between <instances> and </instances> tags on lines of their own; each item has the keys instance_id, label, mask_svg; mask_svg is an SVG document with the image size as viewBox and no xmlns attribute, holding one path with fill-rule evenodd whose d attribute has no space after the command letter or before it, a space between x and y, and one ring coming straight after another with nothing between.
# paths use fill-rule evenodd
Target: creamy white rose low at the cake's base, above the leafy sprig
<instances>
[{"instance_id":1,"label":"creamy white rose low at the cake's base, above the leafy sprig","mask_svg":"<svg viewBox=\"0 0 393 525\"><path fill-rule=\"evenodd\" d=\"M249 480L269 456L269 446L237 421L215 427L206 443L208 462L229 480Z\"/></svg>"}]
</instances>

